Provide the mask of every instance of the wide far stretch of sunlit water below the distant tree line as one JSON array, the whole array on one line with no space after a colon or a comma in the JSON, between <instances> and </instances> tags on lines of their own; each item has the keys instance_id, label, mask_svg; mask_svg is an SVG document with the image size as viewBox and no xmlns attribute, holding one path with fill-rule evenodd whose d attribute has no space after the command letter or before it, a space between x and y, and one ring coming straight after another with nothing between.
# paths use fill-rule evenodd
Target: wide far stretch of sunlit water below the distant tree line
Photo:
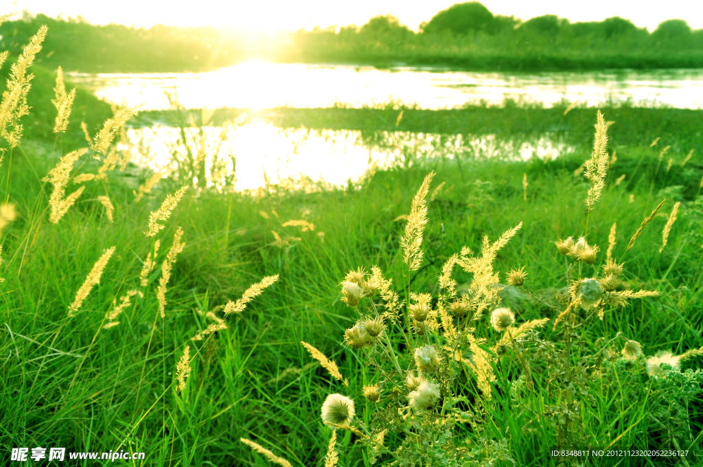
<instances>
[{"instance_id":1,"label":"wide far stretch of sunlit water below the distant tree line","mask_svg":"<svg viewBox=\"0 0 703 467\"><path fill-rule=\"evenodd\" d=\"M562 98L589 105L608 98L656 101L676 108L701 108L703 103L703 70L501 73L245 63L200 73L69 75L72 82L100 98L129 105L144 103L144 110L169 108L164 90L175 90L186 108L318 108L334 103L359 107L396 99L437 109L479 99L501 103L505 96L521 96L548 106Z\"/></svg>"}]
</instances>

